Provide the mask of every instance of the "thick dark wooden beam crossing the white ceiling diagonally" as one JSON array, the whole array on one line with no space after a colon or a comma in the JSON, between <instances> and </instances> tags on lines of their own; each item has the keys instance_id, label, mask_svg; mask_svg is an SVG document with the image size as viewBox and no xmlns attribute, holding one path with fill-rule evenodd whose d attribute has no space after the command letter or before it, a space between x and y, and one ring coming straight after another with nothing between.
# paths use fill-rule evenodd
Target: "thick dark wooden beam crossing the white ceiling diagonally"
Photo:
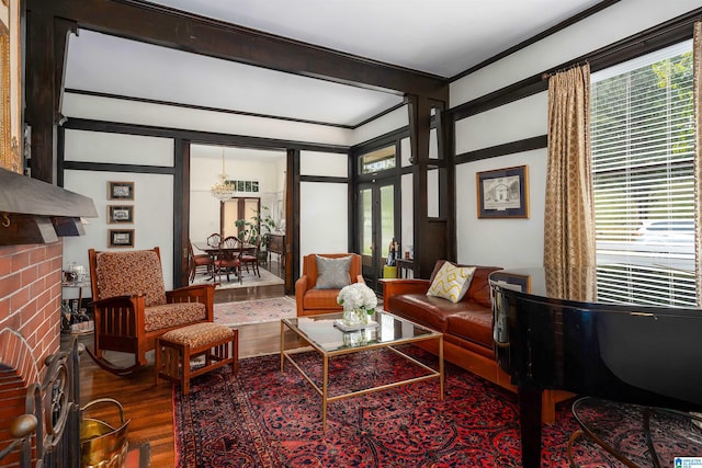
<instances>
[{"instance_id":1,"label":"thick dark wooden beam crossing the white ceiling diagonally","mask_svg":"<svg viewBox=\"0 0 702 468\"><path fill-rule=\"evenodd\" d=\"M29 0L80 27L225 60L448 102L448 80L137 0Z\"/></svg>"}]
</instances>

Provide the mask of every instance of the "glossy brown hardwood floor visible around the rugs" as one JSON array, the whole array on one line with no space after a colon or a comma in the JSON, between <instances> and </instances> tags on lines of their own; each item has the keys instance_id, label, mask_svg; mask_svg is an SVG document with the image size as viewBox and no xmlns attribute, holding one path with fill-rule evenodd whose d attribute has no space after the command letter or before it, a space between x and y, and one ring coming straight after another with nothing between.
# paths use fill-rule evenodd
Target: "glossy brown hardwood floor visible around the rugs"
<instances>
[{"instance_id":1,"label":"glossy brown hardwood floor visible around the rugs","mask_svg":"<svg viewBox=\"0 0 702 468\"><path fill-rule=\"evenodd\" d=\"M280 297L282 292L279 289L262 287L261 290L250 290L246 288L248 294L239 295L239 299L246 300L264 297ZM224 300L219 300L224 301ZM63 340L64 344L69 345L70 336L67 335ZM92 345L92 335L84 335L79 342L86 345ZM261 354L280 352L280 322L270 322L252 326L242 326L239 328L239 357L251 357ZM149 365L143 367L134 375L128 377L117 377L106 370L101 369L88 356L87 353L81 355L80 359L80 404L83 406L89 401L98 398L114 398L120 401L124 408L124 416L131 420L128 427L129 445L148 442L151 452L151 467L173 467L174 447L173 447L173 408L172 408L172 389L171 384L162 383L155 385L152 352L149 353ZM129 364L126 355L120 353L106 353L105 357L115 363L121 361ZM114 406L105 408L95 408L90 414L94 418L118 423L115 418L116 411Z\"/></svg>"}]
</instances>

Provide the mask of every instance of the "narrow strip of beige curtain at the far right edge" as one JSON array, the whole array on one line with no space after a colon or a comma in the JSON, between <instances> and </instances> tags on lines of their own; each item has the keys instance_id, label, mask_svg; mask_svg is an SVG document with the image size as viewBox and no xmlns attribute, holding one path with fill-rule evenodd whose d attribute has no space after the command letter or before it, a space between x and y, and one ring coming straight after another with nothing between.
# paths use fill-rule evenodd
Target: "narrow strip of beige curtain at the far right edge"
<instances>
[{"instance_id":1,"label":"narrow strip of beige curtain at the far right edge","mask_svg":"<svg viewBox=\"0 0 702 468\"><path fill-rule=\"evenodd\" d=\"M694 270L697 277L698 306L702 307L702 23L694 23L694 118L697 124L697 145L694 153Z\"/></svg>"}]
</instances>

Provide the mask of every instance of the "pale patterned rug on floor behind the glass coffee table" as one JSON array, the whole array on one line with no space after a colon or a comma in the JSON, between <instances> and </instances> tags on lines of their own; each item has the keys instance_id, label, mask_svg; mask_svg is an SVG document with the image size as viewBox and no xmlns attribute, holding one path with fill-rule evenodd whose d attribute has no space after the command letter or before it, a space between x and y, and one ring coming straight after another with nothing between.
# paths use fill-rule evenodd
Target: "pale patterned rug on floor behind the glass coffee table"
<instances>
[{"instance_id":1,"label":"pale patterned rug on floor behind the glass coffee table","mask_svg":"<svg viewBox=\"0 0 702 468\"><path fill-rule=\"evenodd\" d=\"M215 323L227 327L274 322L297 315L295 300L287 296L215 304L214 309Z\"/></svg>"}]
</instances>

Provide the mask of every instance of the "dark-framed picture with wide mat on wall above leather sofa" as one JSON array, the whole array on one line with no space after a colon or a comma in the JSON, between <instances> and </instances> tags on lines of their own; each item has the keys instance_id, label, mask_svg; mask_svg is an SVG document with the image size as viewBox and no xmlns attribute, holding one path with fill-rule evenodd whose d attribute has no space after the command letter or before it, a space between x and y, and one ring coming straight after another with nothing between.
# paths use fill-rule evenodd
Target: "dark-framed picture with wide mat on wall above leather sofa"
<instances>
[{"instance_id":1,"label":"dark-framed picture with wide mat on wall above leather sofa","mask_svg":"<svg viewBox=\"0 0 702 468\"><path fill-rule=\"evenodd\" d=\"M477 172L478 218L529 218L526 165Z\"/></svg>"}]
</instances>

